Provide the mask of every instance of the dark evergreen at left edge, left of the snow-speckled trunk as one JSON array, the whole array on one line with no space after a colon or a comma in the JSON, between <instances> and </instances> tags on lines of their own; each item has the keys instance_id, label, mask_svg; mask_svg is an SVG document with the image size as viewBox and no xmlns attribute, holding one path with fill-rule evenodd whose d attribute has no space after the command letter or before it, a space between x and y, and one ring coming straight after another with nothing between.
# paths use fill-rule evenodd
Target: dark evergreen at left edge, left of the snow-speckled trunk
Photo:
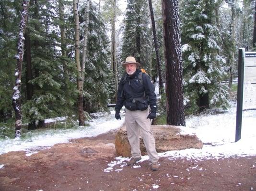
<instances>
[{"instance_id":1,"label":"dark evergreen at left edge, left of the snow-speckled trunk","mask_svg":"<svg viewBox=\"0 0 256 191\"><path fill-rule=\"evenodd\" d=\"M12 117L13 57L17 53L21 4L22 1L0 0L0 122Z\"/></svg>"}]
</instances>

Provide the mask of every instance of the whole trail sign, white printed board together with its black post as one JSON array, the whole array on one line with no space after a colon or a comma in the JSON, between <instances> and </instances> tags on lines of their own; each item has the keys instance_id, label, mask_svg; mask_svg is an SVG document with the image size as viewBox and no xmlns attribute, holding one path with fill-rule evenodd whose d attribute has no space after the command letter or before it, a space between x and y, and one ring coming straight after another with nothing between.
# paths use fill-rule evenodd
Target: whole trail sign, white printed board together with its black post
<instances>
[{"instance_id":1,"label":"whole trail sign, white printed board together with its black post","mask_svg":"<svg viewBox=\"0 0 256 191\"><path fill-rule=\"evenodd\" d=\"M246 110L256 110L256 52L238 52L238 86L236 105L235 142L241 138L242 114Z\"/></svg>"}]
</instances>

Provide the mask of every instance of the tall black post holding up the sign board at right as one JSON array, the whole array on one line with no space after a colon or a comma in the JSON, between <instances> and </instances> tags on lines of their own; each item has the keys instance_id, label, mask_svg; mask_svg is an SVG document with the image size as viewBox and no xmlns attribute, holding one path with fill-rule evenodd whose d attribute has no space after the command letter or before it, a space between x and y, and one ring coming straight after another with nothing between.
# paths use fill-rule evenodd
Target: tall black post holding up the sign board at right
<instances>
[{"instance_id":1,"label":"tall black post holding up the sign board at right","mask_svg":"<svg viewBox=\"0 0 256 191\"><path fill-rule=\"evenodd\" d=\"M240 48L238 51L238 83L237 83L235 142L240 140L241 130L242 130L243 89L244 89L244 56L245 56L245 49Z\"/></svg>"}]
</instances>

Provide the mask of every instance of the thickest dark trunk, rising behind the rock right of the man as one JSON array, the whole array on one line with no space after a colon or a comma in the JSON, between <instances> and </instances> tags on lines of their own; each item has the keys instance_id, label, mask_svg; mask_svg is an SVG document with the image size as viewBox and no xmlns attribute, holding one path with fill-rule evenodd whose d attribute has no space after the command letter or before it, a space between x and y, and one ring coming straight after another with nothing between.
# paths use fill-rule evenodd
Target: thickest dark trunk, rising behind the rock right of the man
<instances>
[{"instance_id":1,"label":"thickest dark trunk, rising behind the rock right of the man","mask_svg":"<svg viewBox=\"0 0 256 191\"><path fill-rule=\"evenodd\" d=\"M167 125L185 126L177 0L162 0Z\"/></svg>"}]
</instances>

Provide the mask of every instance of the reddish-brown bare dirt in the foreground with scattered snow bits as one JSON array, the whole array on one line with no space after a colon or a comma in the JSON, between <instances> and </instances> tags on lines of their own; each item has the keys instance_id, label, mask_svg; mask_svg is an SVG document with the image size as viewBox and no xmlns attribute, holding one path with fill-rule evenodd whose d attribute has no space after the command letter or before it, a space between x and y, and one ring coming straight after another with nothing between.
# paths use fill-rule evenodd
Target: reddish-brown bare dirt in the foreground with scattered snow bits
<instances>
[{"instance_id":1,"label":"reddish-brown bare dirt in the foreground with scattered snow bits","mask_svg":"<svg viewBox=\"0 0 256 191\"><path fill-rule=\"evenodd\" d=\"M255 191L256 156L228 159L161 158L160 169L149 161L141 168L116 165L115 132L72 139L31 156L0 155L0 191ZM158 185L159 188L153 187Z\"/></svg>"}]
</instances>

